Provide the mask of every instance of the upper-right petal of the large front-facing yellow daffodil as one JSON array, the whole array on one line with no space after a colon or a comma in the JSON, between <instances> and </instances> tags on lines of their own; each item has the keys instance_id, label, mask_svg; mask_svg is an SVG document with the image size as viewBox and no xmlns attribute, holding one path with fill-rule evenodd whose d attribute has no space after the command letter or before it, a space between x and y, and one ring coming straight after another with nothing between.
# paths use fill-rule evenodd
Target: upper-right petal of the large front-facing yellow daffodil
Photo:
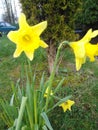
<instances>
[{"instance_id":1,"label":"upper-right petal of the large front-facing yellow daffodil","mask_svg":"<svg viewBox=\"0 0 98 130\"><path fill-rule=\"evenodd\" d=\"M40 36L40 34L45 30L46 27L47 27L47 21L44 21L33 26L32 29L38 36Z\"/></svg>"}]
</instances>

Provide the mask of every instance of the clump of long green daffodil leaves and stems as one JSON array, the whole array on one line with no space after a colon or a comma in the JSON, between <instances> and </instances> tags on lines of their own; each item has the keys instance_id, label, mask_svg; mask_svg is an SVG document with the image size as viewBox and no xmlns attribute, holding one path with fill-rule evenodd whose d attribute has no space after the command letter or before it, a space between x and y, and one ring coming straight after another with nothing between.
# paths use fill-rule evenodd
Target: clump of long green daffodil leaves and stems
<instances>
[{"instance_id":1,"label":"clump of long green daffodil leaves and stems","mask_svg":"<svg viewBox=\"0 0 98 130\"><path fill-rule=\"evenodd\" d=\"M18 80L16 86L12 84L13 95L10 104L7 102L4 103L3 100L3 103L0 102L4 113L2 117L9 130L41 130L42 128L53 130L47 114L49 114L53 108L58 107L61 103L66 102L71 97L66 96L66 98L61 99L55 95L51 95L61 47L62 46L60 45L58 48L54 69L50 77L45 81L43 74L38 88L35 85L35 74L32 76L30 61L27 59L27 63L25 62L25 64L21 66L21 80ZM24 84L22 81L23 79L25 79ZM58 86L60 87L61 85L62 82ZM48 89L47 93L46 89ZM44 95L46 95L46 97ZM57 99L56 104L53 103L54 99L55 101Z\"/></svg>"}]
</instances>

